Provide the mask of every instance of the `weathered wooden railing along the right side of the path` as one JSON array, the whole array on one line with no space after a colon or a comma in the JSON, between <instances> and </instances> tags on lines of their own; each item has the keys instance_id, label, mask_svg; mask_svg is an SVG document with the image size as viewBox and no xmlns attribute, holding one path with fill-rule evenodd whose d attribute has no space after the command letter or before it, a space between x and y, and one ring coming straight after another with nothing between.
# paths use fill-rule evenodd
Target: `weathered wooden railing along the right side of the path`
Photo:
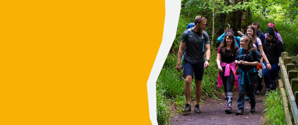
<instances>
[{"instance_id":1,"label":"weathered wooden railing along the right side of the path","mask_svg":"<svg viewBox=\"0 0 298 125\"><path fill-rule=\"evenodd\" d=\"M282 58L279 59L281 66L279 88L284 103L287 125L298 125L298 72L295 70L295 64L292 63L296 61L298 61L298 57L289 57L287 52L283 52Z\"/></svg>"}]
</instances>

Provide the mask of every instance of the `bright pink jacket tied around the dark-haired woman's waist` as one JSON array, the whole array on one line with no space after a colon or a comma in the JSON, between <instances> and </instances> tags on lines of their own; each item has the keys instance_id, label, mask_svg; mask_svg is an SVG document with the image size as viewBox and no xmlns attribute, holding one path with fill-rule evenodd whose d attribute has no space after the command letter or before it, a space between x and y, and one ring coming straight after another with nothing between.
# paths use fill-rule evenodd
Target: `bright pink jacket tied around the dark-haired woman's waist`
<instances>
[{"instance_id":1,"label":"bright pink jacket tied around the dark-haired woman's waist","mask_svg":"<svg viewBox=\"0 0 298 125\"><path fill-rule=\"evenodd\" d=\"M235 75L235 70L236 70L236 63L235 62L232 62L232 63L225 63L225 62L222 62L221 66L225 66L225 71L224 71L224 76L229 76L230 74L230 69L232 69L233 71L233 74L235 76L235 82L234 82L234 85L237 86L237 91L239 92L239 85L238 85L238 75ZM222 78L221 78L221 75L220 75L220 71L219 71L219 74L218 74L218 86L221 87L222 86Z\"/></svg>"}]
</instances>

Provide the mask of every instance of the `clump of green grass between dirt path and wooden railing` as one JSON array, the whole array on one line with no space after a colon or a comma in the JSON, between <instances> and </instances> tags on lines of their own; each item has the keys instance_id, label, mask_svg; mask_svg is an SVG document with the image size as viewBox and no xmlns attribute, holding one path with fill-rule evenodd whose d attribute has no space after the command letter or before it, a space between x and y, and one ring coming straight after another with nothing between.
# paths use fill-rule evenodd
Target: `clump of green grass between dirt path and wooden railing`
<instances>
[{"instance_id":1,"label":"clump of green grass between dirt path and wooden railing","mask_svg":"<svg viewBox=\"0 0 298 125\"><path fill-rule=\"evenodd\" d=\"M286 125L284 107L280 91L271 91L265 99L265 123L270 125Z\"/></svg>"}]
</instances>

